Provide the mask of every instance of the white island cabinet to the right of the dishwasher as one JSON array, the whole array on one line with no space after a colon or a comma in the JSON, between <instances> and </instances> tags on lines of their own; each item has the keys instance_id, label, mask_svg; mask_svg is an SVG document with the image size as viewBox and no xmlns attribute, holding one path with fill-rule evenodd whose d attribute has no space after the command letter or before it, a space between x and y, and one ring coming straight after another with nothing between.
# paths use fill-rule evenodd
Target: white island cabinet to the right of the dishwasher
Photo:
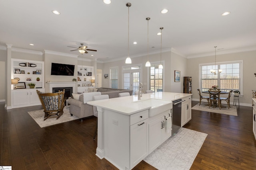
<instances>
[{"instance_id":1,"label":"white island cabinet to the right of the dishwasher","mask_svg":"<svg viewBox=\"0 0 256 170\"><path fill-rule=\"evenodd\" d=\"M181 105L181 127L191 120L191 96L183 98Z\"/></svg>"}]
</instances>

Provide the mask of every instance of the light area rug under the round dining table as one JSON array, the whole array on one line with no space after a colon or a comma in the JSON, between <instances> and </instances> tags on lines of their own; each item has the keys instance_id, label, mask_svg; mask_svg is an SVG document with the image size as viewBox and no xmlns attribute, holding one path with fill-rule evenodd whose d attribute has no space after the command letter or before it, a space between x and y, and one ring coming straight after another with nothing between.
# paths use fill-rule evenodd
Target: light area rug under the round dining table
<instances>
[{"instance_id":1,"label":"light area rug under the round dining table","mask_svg":"<svg viewBox=\"0 0 256 170\"><path fill-rule=\"evenodd\" d=\"M192 107L192 109L201 110L201 111L208 111L208 112L212 112L212 113L221 113L221 114L226 114L226 115L237 116L236 106L230 105L230 108L228 109L228 105L226 105L226 104L222 104L222 105L226 108L221 108L221 109L219 109L219 107L209 108L207 102L201 102L200 106L199 106L199 103L198 103L196 106Z\"/></svg>"}]
</instances>

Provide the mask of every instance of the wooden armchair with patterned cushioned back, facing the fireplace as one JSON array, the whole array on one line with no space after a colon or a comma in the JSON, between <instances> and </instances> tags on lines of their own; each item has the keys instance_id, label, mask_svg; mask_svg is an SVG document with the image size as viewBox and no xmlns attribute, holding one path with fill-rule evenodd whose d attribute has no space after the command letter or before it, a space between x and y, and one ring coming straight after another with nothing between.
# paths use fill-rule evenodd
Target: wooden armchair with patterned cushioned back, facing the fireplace
<instances>
[{"instance_id":1,"label":"wooden armchair with patterned cushioned back, facing the fireplace","mask_svg":"<svg viewBox=\"0 0 256 170\"><path fill-rule=\"evenodd\" d=\"M44 121L48 118L59 119L65 106L65 89L63 89L63 92L59 90L57 93L41 93L39 90L36 90L36 92L44 108Z\"/></svg>"}]
</instances>

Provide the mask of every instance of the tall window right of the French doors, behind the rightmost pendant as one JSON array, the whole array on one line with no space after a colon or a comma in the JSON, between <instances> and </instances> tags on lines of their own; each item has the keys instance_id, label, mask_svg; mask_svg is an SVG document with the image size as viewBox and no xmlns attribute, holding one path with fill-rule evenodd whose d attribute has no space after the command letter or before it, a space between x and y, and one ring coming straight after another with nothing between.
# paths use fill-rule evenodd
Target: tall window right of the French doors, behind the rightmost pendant
<instances>
[{"instance_id":1,"label":"tall window right of the French doors, behind the rightmost pendant","mask_svg":"<svg viewBox=\"0 0 256 170\"><path fill-rule=\"evenodd\" d=\"M150 66L150 90L154 92L163 91L163 69L159 69L158 66L159 63Z\"/></svg>"}]
</instances>

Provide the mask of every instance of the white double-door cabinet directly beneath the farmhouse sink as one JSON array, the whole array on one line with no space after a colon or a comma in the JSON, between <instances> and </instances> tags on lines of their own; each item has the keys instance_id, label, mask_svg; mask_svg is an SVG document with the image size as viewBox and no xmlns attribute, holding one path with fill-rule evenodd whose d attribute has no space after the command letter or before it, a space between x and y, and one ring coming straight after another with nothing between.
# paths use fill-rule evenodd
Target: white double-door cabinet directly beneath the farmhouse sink
<instances>
[{"instance_id":1,"label":"white double-door cabinet directly beneath the farmhouse sink","mask_svg":"<svg viewBox=\"0 0 256 170\"><path fill-rule=\"evenodd\" d=\"M167 132L166 129L166 118L170 117L170 110L165 111L164 116L162 116L163 113L160 113L160 115L161 117L148 123L149 154L172 135L172 131Z\"/></svg>"}]
</instances>

